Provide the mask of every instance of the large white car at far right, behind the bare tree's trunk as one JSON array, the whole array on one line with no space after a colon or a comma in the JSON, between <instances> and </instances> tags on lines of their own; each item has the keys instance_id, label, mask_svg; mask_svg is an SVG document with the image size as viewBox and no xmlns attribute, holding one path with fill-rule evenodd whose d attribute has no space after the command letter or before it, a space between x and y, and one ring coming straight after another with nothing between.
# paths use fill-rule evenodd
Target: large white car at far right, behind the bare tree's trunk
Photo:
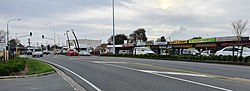
<instances>
[{"instance_id":1,"label":"large white car at far right, behind the bare tree's trunk","mask_svg":"<svg viewBox=\"0 0 250 91\"><path fill-rule=\"evenodd\" d=\"M237 46L235 46L234 48L233 48L233 46L228 46L228 47L225 47L225 48L217 51L215 53L215 55L217 55L217 56L228 56L228 55L233 56L233 51L234 51L234 55L238 54L238 56L240 56L240 52L241 52L240 48L241 47L238 48ZM250 56L250 49L247 47L243 47L242 57L248 57L248 56Z\"/></svg>"}]
</instances>

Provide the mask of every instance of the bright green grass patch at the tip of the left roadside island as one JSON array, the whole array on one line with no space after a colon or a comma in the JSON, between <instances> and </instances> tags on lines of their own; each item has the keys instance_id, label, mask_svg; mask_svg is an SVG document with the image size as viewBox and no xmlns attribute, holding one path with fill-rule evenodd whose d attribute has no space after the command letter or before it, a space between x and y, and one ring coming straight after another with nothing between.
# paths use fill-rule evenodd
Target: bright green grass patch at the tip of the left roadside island
<instances>
[{"instance_id":1,"label":"bright green grass patch at the tip of the left roadside island","mask_svg":"<svg viewBox=\"0 0 250 91\"><path fill-rule=\"evenodd\" d=\"M28 72L26 75L32 75L32 74L41 74L41 73L47 73L55 71L52 67L50 67L48 64L26 58Z\"/></svg>"}]
</instances>

